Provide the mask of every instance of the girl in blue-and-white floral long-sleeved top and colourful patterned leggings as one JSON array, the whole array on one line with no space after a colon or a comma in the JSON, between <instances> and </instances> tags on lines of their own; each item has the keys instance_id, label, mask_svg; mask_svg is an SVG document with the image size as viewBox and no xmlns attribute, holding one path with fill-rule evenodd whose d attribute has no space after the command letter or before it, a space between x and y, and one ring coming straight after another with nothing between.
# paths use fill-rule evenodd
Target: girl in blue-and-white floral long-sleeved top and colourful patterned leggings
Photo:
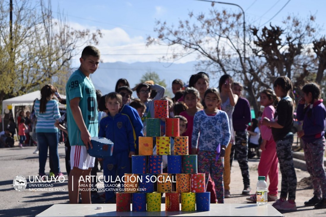
<instances>
[{"instance_id":1,"label":"girl in blue-and-white floral long-sleeved top and colourful patterned leggings","mask_svg":"<svg viewBox=\"0 0 326 217\"><path fill-rule=\"evenodd\" d=\"M221 98L216 88L206 90L204 101L205 109L194 116L192 153L197 153L198 148L198 170L205 173L205 183L211 175L217 202L224 203L223 162L231 139L229 118L224 111L217 109Z\"/></svg>"}]
</instances>

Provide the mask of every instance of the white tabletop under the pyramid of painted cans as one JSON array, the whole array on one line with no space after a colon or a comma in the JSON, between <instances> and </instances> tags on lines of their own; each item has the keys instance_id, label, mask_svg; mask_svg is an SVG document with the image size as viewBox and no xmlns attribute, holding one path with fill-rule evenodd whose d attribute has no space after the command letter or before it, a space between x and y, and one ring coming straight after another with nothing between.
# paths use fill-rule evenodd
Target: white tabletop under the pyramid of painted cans
<instances>
[{"instance_id":1,"label":"white tabletop under the pyramid of painted cans","mask_svg":"<svg viewBox=\"0 0 326 217\"><path fill-rule=\"evenodd\" d=\"M97 207L102 210L96 210ZM130 204L131 206L131 204ZM211 204L208 212L167 212L165 204L161 204L161 212L116 212L115 204L55 204L44 210L37 217L43 216L283 216L271 204ZM131 210L131 209L130 209ZM181 204L180 204L181 210Z\"/></svg>"}]
</instances>

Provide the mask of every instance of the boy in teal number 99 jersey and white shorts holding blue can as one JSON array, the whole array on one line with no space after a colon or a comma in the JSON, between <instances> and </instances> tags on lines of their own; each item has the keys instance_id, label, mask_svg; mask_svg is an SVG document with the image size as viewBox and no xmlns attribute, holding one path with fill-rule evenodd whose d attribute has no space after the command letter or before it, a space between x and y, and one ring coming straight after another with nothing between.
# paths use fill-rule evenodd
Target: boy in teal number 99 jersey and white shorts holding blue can
<instances>
[{"instance_id":1,"label":"boy in teal number 99 jersey and white shorts holding blue can","mask_svg":"<svg viewBox=\"0 0 326 217\"><path fill-rule=\"evenodd\" d=\"M69 201L78 204L79 191L82 203L91 203L89 179L95 158L87 153L93 148L91 137L98 133L97 101L94 85L90 79L100 61L100 52L96 47L87 46L79 59L81 65L69 78L66 85L67 126L71 146L71 171L68 179ZM80 182L81 180L85 182Z\"/></svg>"}]
</instances>

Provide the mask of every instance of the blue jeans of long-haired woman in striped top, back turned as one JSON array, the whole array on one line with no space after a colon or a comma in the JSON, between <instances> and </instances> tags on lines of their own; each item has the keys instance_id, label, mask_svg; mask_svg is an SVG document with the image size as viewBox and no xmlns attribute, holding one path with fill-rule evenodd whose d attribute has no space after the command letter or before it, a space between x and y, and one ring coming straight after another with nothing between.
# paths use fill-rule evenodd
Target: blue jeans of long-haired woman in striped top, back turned
<instances>
[{"instance_id":1,"label":"blue jeans of long-haired woman in striped top, back turned","mask_svg":"<svg viewBox=\"0 0 326 217\"><path fill-rule=\"evenodd\" d=\"M60 172L59 154L58 154L58 133L36 133L39 144L39 174L45 173L45 164L48 158L48 148L53 162L54 173Z\"/></svg>"}]
</instances>

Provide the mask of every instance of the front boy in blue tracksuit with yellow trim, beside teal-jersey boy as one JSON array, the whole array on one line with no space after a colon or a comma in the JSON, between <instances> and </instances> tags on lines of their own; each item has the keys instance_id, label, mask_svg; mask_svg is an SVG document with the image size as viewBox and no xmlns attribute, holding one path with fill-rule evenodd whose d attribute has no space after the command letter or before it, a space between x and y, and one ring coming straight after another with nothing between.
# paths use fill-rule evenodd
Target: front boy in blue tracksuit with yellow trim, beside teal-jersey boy
<instances>
[{"instance_id":1,"label":"front boy in blue tracksuit with yellow trim, beside teal-jersey boy","mask_svg":"<svg viewBox=\"0 0 326 217\"><path fill-rule=\"evenodd\" d=\"M131 173L131 156L135 154L136 144L128 115L119 113L122 96L116 92L107 94L105 106L109 114L100 121L98 136L114 143L112 156L103 159L103 175L106 203L115 203L114 184L117 183L114 181L117 175L122 180L125 173Z\"/></svg>"}]
</instances>

